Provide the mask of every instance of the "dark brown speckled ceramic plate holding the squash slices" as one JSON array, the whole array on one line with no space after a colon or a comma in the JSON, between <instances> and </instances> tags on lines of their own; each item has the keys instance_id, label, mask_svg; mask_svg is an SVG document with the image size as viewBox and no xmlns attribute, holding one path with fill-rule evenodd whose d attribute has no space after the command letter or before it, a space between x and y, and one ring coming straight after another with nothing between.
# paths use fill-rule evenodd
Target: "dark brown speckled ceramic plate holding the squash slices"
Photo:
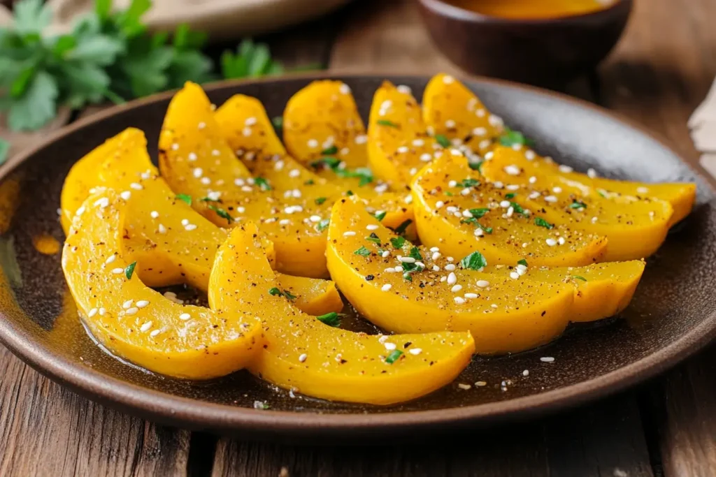
<instances>
[{"instance_id":1,"label":"dark brown speckled ceramic plate holding the squash slices","mask_svg":"<svg viewBox=\"0 0 716 477\"><path fill-rule=\"evenodd\" d=\"M261 99L269 116L316 77L208 87L221 104L232 94ZM384 77L341 77L367 114ZM390 77L420 97L427 79ZM577 169L594 167L625 179L695 181L698 205L672 231L647 271L632 305L619 319L570 328L539 350L475 358L453 385L390 407L291 398L239 372L210 383L146 373L105 354L79 325L60 270L59 255L42 255L32 238L63 239L57 220L62 181L72 163L128 126L144 129L152 148L170 94L111 109L72 125L0 169L0 338L49 377L89 398L156 421L191 428L242 431L263 437L357 439L455 430L497 418L574 405L632 385L693 353L716 328L715 191L672 150L649 134L589 104L516 84L468 82L505 122L536 139L539 152ZM156 150L151 151L156 154ZM553 363L540 358L551 356ZM523 376L523 370L529 370ZM457 383L485 381L462 390ZM506 390L502 383L505 381ZM270 410L253 409L254 400Z\"/></svg>"}]
</instances>

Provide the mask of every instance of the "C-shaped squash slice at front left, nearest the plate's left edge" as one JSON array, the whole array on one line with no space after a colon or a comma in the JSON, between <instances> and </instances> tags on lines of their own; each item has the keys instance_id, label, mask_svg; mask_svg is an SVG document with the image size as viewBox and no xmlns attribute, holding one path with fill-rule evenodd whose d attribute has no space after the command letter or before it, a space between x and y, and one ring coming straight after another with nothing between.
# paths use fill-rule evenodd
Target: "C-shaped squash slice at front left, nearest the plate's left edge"
<instances>
[{"instance_id":1,"label":"C-shaped squash slice at front left, nearest the plate's left edge","mask_svg":"<svg viewBox=\"0 0 716 477\"><path fill-rule=\"evenodd\" d=\"M253 315L178 305L132 272L122 250L127 208L112 190L90 196L62 252L67 285L92 335L112 353L177 378L216 378L256 358L263 338ZM214 281L231 279L227 265L214 267Z\"/></svg>"}]
</instances>

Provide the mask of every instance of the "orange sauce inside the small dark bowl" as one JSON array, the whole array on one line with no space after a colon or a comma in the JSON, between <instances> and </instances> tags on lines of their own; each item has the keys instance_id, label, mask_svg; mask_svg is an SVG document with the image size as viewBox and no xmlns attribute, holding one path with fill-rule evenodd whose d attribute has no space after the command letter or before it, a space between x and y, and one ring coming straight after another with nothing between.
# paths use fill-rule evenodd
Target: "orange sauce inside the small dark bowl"
<instances>
[{"instance_id":1,"label":"orange sauce inside the small dark bowl","mask_svg":"<svg viewBox=\"0 0 716 477\"><path fill-rule=\"evenodd\" d=\"M461 9L506 19L553 19L604 10L616 0L447 0Z\"/></svg>"}]
</instances>

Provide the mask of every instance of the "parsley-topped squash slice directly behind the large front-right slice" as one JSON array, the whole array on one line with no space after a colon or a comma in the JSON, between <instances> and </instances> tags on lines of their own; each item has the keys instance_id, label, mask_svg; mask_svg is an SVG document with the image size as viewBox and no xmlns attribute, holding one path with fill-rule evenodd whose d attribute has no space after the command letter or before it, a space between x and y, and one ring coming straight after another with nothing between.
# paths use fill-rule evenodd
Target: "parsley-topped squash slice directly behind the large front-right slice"
<instances>
[{"instance_id":1,"label":"parsley-topped squash slice directly behind the large front-right slice","mask_svg":"<svg viewBox=\"0 0 716 477\"><path fill-rule=\"evenodd\" d=\"M490 264L581 266L601 259L607 240L555 225L515 192L485 182L458 152L422 169L412 183L420 240L453 257L480 251Z\"/></svg>"}]
</instances>

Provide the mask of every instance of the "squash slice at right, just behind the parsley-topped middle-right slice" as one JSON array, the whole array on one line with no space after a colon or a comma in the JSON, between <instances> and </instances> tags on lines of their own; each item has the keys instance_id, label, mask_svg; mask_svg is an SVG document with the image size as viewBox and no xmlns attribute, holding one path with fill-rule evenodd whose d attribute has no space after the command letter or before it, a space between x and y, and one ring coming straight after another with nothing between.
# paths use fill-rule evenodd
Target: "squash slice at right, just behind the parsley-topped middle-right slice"
<instances>
[{"instance_id":1,"label":"squash slice at right, just behind the parsley-topped middle-right slice","mask_svg":"<svg viewBox=\"0 0 716 477\"><path fill-rule=\"evenodd\" d=\"M528 161L521 151L498 146L481 172L493 184L511 190L524 207L538 210L548 222L606 237L605 261L648 257L666 239L672 217L669 202L600 193L545 173L543 167L534 167L535 162Z\"/></svg>"}]
</instances>

